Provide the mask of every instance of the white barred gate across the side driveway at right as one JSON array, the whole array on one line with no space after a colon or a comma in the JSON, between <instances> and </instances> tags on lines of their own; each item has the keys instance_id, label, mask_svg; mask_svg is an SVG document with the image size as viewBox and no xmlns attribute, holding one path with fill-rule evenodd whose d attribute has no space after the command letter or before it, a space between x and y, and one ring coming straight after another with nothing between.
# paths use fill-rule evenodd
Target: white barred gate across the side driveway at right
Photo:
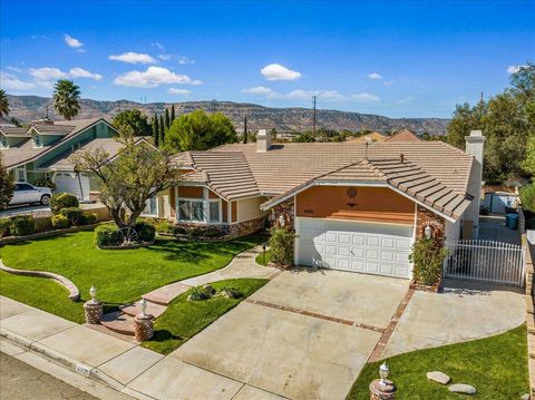
<instances>
[{"instance_id":1,"label":"white barred gate across the side driveway at right","mask_svg":"<svg viewBox=\"0 0 535 400\"><path fill-rule=\"evenodd\" d=\"M494 241L446 242L444 276L524 286L524 248Z\"/></svg>"}]
</instances>

